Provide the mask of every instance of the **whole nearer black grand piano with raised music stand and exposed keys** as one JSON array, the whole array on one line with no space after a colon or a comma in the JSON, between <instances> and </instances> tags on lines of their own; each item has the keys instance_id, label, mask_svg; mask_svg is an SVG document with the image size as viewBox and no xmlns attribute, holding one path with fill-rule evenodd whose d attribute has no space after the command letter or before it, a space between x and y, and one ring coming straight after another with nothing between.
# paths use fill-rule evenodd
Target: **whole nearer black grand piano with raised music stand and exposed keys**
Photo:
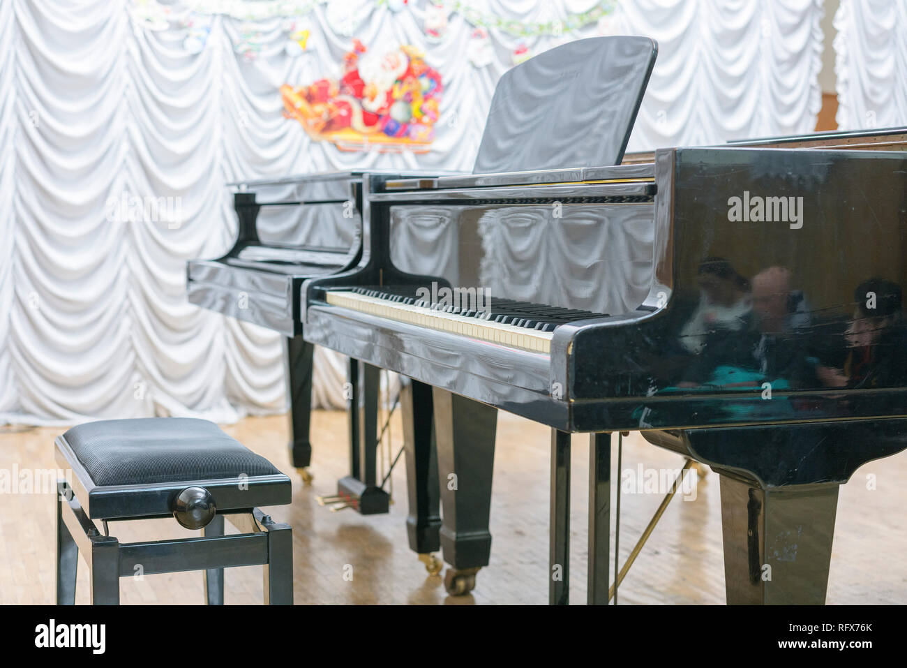
<instances>
[{"instance_id":1,"label":"whole nearer black grand piano with raised music stand and exposed keys","mask_svg":"<svg viewBox=\"0 0 907 668\"><path fill-rule=\"evenodd\" d=\"M620 164L654 57L553 49L502 77L475 173L364 175L362 255L303 281L303 336L412 379L409 523L451 591L488 564L502 409L552 427L551 603L571 432L591 434L588 596L608 601L624 430L720 475L728 603L824 603L839 486L907 447L907 131Z\"/></svg>"}]
</instances>

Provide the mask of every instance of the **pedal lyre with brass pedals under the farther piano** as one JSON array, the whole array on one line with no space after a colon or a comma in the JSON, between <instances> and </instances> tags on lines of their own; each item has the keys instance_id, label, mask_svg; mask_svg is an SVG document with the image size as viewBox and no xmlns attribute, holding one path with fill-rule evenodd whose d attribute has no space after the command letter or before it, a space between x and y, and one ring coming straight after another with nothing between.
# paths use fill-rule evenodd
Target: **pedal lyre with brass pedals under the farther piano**
<instances>
[{"instance_id":1,"label":"pedal lyre with brass pedals under the farther piano","mask_svg":"<svg viewBox=\"0 0 907 668\"><path fill-rule=\"evenodd\" d=\"M390 496L378 486L378 395L380 369L357 359L349 360L348 404L351 474L337 482L337 496L350 499L362 515L386 513Z\"/></svg>"}]
</instances>

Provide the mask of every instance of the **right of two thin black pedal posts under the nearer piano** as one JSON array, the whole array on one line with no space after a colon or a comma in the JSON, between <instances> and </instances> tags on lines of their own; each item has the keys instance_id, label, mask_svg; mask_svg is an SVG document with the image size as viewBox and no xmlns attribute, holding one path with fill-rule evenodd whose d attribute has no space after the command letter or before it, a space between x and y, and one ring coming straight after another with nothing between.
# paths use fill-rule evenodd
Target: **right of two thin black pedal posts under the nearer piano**
<instances>
[{"instance_id":1,"label":"right of two thin black pedal posts under the nearer piano","mask_svg":"<svg viewBox=\"0 0 907 668\"><path fill-rule=\"evenodd\" d=\"M608 604L611 519L611 435L589 437L589 570L586 603Z\"/></svg>"}]
</instances>

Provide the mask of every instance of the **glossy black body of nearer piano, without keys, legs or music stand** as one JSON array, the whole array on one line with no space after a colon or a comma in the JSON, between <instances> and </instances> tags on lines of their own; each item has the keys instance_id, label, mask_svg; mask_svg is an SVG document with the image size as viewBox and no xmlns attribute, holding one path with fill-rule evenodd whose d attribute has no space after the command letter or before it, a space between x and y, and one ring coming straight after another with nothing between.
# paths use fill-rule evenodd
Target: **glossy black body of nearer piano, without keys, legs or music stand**
<instances>
[{"instance_id":1,"label":"glossy black body of nearer piano, without keys, legs or music stand","mask_svg":"<svg viewBox=\"0 0 907 668\"><path fill-rule=\"evenodd\" d=\"M368 195L386 238L350 285L380 290L383 262L388 285L608 314L557 327L547 354L336 309L319 286L339 277L309 282L313 340L568 431L905 413L904 153L678 149L649 179L610 169ZM729 220L733 198L785 221Z\"/></svg>"}]
</instances>

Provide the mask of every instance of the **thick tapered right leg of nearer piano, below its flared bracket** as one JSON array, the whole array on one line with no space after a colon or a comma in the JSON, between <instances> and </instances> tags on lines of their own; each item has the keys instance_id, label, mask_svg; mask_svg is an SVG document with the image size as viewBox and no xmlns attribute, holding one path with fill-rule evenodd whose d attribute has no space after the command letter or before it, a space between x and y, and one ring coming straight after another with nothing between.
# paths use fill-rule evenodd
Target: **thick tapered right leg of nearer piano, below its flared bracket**
<instances>
[{"instance_id":1,"label":"thick tapered right leg of nearer piano, below its flared bracket","mask_svg":"<svg viewBox=\"0 0 907 668\"><path fill-rule=\"evenodd\" d=\"M720 480L727 603L824 604L838 485Z\"/></svg>"}]
</instances>

